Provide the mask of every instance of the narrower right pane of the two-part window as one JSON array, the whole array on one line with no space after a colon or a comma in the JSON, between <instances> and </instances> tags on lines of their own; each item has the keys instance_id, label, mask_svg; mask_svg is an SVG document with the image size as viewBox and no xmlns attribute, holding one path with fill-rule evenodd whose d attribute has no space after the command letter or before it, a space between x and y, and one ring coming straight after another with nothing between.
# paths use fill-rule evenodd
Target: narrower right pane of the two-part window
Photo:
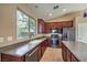
<instances>
[{"instance_id":1,"label":"narrower right pane of the two-part window","mask_svg":"<svg viewBox=\"0 0 87 65\"><path fill-rule=\"evenodd\" d=\"M30 18L30 37L34 37L35 36L35 20Z\"/></svg>"}]
</instances>

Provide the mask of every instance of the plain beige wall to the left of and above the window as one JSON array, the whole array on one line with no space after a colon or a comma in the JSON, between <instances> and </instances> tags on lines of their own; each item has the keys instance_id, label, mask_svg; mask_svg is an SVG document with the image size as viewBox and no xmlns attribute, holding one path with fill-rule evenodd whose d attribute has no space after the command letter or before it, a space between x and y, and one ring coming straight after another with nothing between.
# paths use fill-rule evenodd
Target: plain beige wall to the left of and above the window
<instances>
[{"instance_id":1,"label":"plain beige wall to the left of and above the window","mask_svg":"<svg viewBox=\"0 0 87 65\"><path fill-rule=\"evenodd\" d=\"M0 42L0 46L7 45L8 36L12 36L11 43L18 42L17 41L17 9L18 8L21 9L26 14L35 18L30 11L30 8L28 7L28 4L8 4L8 3L1 4L0 3L0 40L4 41L3 43ZM8 43L8 44L11 44L11 43Z\"/></svg>"}]
</instances>

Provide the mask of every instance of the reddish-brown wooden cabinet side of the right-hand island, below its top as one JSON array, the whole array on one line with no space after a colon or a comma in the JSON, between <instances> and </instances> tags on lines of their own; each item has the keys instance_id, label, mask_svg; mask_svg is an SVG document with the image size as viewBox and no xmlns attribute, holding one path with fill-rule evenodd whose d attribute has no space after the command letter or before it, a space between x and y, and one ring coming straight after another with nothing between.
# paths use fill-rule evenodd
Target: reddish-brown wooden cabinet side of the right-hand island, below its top
<instances>
[{"instance_id":1,"label":"reddish-brown wooden cabinet side of the right-hand island, below its top","mask_svg":"<svg viewBox=\"0 0 87 65\"><path fill-rule=\"evenodd\" d=\"M63 43L62 43L62 56L64 62L79 62Z\"/></svg>"}]
</instances>

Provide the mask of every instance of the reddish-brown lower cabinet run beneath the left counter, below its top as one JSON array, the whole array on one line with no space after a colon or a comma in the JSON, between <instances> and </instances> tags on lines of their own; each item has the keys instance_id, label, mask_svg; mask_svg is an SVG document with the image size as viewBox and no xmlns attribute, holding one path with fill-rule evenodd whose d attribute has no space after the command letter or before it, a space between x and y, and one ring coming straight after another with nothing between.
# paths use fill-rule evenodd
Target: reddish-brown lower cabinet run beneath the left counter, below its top
<instances>
[{"instance_id":1,"label":"reddish-brown lower cabinet run beneath the left counter, below its top","mask_svg":"<svg viewBox=\"0 0 87 65\"><path fill-rule=\"evenodd\" d=\"M2 62L39 62L47 47L47 40L44 40L40 45L28 52L23 56L15 56L1 53Z\"/></svg>"}]
</instances>

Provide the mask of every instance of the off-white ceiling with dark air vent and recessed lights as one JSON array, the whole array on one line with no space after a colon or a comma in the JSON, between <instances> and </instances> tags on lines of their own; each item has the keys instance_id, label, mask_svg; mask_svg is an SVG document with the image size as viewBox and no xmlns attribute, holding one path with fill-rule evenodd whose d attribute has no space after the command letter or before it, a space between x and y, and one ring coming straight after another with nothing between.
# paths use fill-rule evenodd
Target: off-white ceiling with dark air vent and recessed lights
<instances>
[{"instance_id":1,"label":"off-white ceiling with dark air vent and recessed lights","mask_svg":"<svg viewBox=\"0 0 87 65\"><path fill-rule=\"evenodd\" d=\"M58 6L57 9L53 9ZM87 3L30 3L29 8L36 18L51 20L63 14L87 9Z\"/></svg>"}]
</instances>

